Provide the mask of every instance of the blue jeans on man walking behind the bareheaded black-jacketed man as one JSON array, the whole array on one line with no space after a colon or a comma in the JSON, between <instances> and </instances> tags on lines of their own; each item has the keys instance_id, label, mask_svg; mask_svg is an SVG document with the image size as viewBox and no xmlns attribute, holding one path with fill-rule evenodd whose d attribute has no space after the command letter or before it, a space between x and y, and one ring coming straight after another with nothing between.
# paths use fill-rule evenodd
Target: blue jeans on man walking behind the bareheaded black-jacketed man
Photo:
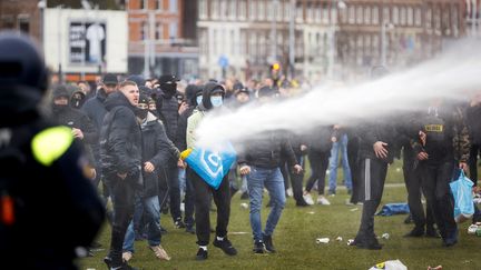
<instances>
[{"instance_id":1,"label":"blue jeans on man walking behind the bareheaded black-jacketed man","mask_svg":"<svg viewBox=\"0 0 481 270\"><path fill-rule=\"evenodd\" d=\"M146 217L147 223L147 241L149 246L160 244L160 204L158 201L158 196L153 196L144 199L144 214ZM134 241L135 231L134 223L127 228L127 232L124 240L124 251L130 251L134 253Z\"/></svg>"}]
</instances>

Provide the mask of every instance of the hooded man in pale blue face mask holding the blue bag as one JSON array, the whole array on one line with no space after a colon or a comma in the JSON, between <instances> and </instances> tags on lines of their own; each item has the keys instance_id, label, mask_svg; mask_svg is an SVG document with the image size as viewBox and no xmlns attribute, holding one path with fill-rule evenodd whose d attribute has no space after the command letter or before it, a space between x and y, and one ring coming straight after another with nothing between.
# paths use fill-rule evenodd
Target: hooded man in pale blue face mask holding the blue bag
<instances>
[{"instance_id":1,"label":"hooded man in pale blue face mask holding the blue bag","mask_svg":"<svg viewBox=\"0 0 481 270\"><path fill-rule=\"evenodd\" d=\"M210 110L218 109L223 106L225 96L224 88L216 82L208 82L203 90L202 103L187 120L187 148L193 149L196 144L195 130L206 113ZM207 259L207 244L210 238L210 200L209 193L214 198L217 207L217 226L214 247L222 249L228 256L237 254L237 250L227 239L227 226L230 216L230 192L228 177L225 176L217 190L207 184L194 170L187 169L187 174L192 176L190 180L195 190L195 218L196 234L199 249L196 260Z\"/></svg>"}]
</instances>

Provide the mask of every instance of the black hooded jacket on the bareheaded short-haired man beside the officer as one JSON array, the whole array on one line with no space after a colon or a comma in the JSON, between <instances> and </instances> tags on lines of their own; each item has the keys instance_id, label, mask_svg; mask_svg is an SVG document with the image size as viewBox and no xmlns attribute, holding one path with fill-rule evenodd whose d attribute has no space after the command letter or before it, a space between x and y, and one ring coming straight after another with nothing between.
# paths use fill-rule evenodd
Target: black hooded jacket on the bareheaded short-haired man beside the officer
<instances>
[{"instance_id":1,"label":"black hooded jacket on the bareheaded short-haired man beside the officer","mask_svg":"<svg viewBox=\"0 0 481 270\"><path fill-rule=\"evenodd\" d=\"M108 113L100 131L100 162L104 173L135 176L141 166L141 132L135 116L137 109L121 92L109 94Z\"/></svg>"}]
</instances>

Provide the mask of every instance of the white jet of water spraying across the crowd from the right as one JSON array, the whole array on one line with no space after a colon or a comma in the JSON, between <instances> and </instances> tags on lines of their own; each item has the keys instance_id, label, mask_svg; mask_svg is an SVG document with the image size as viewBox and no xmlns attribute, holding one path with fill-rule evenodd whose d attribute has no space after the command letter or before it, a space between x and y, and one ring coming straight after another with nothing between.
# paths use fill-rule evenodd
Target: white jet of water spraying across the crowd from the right
<instances>
[{"instance_id":1,"label":"white jet of water spraying across the crowd from the right","mask_svg":"<svg viewBox=\"0 0 481 270\"><path fill-rule=\"evenodd\" d=\"M265 131L308 132L322 124L356 123L428 108L436 98L469 100L481 90L481 42L464 40L433 60L354 86L314 87L297 98L207 116L196 137L200 147L242 144ZM387 67L389 68L389 67Z\"/></svg>"}]
</instances>

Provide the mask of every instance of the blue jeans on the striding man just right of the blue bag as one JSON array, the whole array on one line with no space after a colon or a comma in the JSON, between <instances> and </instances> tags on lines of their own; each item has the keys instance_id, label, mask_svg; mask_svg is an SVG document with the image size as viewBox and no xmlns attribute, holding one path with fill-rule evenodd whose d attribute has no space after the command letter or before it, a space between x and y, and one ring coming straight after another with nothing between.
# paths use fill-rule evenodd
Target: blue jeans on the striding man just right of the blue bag
<instances>
[{"instance_id":1,"label":"blue jeans on the striding man just right of the blue bag","mask_svg":"<svg viewBox=\"0 0 481 270\"><path fill-rule=\"evenodd\" d=\"M261 208L264 186L268 190L271 201L273 203L264 230L265 236L273 234L286 201L284 191L284 179L282 177L279 168L262 169L257 167L251 167L251 173L247 176L247 187L251 202L249 219L254 234L254 241L261 241L263 239Z\"/></svg>"}]
</instances>

